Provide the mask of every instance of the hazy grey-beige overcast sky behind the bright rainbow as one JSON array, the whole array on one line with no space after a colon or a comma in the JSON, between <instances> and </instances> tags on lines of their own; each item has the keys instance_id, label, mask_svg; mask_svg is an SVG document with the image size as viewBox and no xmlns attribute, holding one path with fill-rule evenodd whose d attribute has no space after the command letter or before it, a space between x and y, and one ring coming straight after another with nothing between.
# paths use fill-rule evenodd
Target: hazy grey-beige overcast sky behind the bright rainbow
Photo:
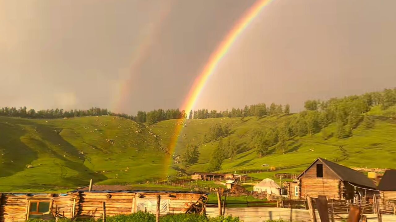
<instances>
[{"instance_id":1,"label":"hazy grey-beige overcast sky behind the bright rainbow","mask_svg":"<svg viewBox=\"0 0 396 222\"><path fill-rule=\"evenodd\" d=\"M180 107L254 0L0 0L0 107ZM274 0L223 58L196 109L396 87L396 1Z\"/></svg>"}]
</instances>

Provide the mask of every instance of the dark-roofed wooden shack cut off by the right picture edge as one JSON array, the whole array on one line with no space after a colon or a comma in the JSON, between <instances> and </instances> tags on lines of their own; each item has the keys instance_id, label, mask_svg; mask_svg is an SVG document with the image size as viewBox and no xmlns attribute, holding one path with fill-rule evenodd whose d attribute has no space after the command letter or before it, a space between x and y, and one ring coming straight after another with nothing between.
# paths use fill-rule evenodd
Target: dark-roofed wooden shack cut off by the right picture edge
<instances>
[{"instance_id":1,"label":"dark-roofed wooden shack cut off by the right picture edge","mask_svg":"<svg viewBox=\"0 0 396 222\"><path fill-rule=\"evenodd\" d=\"M396 213L396 169L385 171L378 185L381 211Z\"/></svg>"}]
</instances>

